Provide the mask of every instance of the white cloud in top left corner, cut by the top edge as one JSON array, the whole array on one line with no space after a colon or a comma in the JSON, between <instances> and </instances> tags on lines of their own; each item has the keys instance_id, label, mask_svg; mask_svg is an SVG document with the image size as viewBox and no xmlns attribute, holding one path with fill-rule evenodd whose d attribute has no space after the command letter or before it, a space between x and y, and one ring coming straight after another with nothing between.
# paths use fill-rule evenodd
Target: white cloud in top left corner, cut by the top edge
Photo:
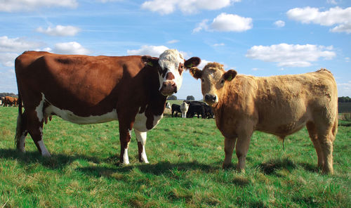
<instances>
[{"instance_id":1,"label":"white cloud in top left corner, cut by the top edge","mask_svg":"<svg viewBox=\"0 0 351 208\"><path fill-rule=\"evenodd\" d=\"M0 11L33 11L42 7L68 7L77 8L77 0L10 0L0 1Z\"/></svg>"}]
</instances>

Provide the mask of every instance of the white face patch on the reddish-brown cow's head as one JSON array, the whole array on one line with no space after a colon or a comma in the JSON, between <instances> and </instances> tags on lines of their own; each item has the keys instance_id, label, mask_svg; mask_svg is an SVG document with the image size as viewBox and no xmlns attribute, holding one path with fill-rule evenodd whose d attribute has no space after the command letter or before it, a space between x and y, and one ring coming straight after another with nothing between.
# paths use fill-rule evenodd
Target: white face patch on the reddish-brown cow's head
<instances>
[{"instance_id":1,"label":"white face patch on the reddish-brown cow's head","mask_svg":"<svg viewBox=\"0 0 351 208\"><path fill-rule=\"evenodd\" d=\"M173 82L175 82L177 85L177 91L179 91L183 82L183 77L178 72L180 63L184 64L184 58L182 53L179 53L176 49L166 50L159 56L159 65L161 66L162 70L167 69L167 73L172 72L174 75ZM159 74L159 90L161 90L163 82L166 82L166 77L167 76L161 77L161 74Z\"/></svg>"}]
</instances>

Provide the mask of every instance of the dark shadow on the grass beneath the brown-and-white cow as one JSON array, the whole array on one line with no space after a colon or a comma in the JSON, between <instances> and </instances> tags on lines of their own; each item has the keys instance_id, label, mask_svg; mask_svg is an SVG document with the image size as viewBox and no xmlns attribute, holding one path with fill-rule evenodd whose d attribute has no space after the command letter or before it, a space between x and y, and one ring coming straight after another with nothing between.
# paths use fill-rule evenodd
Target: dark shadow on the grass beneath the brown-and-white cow
<instances>
[{"instance_id":1,"label":"dark shadow on the grass beneath the brown-and-white cow","mask_svg":"<svg viewBox=\"0 0 351 208\"><path fill-rule=\"evenodd\" d=\"M201 164L197 161L192 162L158 162L155 164L142 164L140 162L132 162L129 165L122 165L119 162L119 154L108 158L100 157L89 157L86 155L65 155L65 154L54 154L51 157L42 157L37 151L27 151L25 153L18 152L15 149L0 149L0 158L17 160L22 165L29 164L42 164L48 169L64 169L65 167L72 164L76 160L84 160L92 162L92 165L88 167L78 167L77 171L81 171L86 175L91 176L107 176L126 174L133 169L137 168L139 171L145 174L171 174L172 171L184 171L184 170L200 170L204 172L217 170L216 164L208 165Z\"/></svg>"}]
</instances>

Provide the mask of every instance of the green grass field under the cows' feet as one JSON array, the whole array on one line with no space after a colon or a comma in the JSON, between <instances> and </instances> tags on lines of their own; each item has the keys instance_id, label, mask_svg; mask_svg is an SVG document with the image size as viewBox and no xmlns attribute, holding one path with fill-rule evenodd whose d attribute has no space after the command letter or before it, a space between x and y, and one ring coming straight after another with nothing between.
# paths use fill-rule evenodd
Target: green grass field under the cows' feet
<instances>
[{"instance_id":1,"label":"green grass field under the cows' feet","mask_svg":"<svg viewBox=\"0 0 351 208\"><path fill-rule=\"evenodd\" d=\"M246 172L223 170L223 136L214 119L164 117L149 131L150 164L119 165L118 123L83 125L59 117L44 126L51 158L30 136L14 147L17 108L0 108L0 207L351 207L351 126L340 122L334 175L317 170L306 129L282 142L256 132ZM237 157L233 155L233 164Z\"/></svg>"}]
</instances>

